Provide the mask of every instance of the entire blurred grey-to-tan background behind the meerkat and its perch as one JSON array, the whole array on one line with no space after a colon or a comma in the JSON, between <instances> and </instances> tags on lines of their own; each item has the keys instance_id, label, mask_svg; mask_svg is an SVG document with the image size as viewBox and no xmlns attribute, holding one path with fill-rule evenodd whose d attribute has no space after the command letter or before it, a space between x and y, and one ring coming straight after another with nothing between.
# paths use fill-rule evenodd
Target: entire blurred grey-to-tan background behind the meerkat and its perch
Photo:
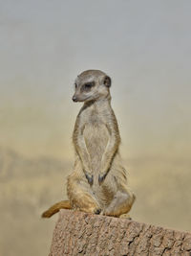
<instances>
[{"instance_id":1,"label":"entire blurred grey-to-tan background behind the meerkat and its perch","mask_svg":"<svg viewBox=\"0 0 191 256\"><path fill-rule=\"evenodd\" d=\"M74 79L113 80L136 221L191 231L191 2L0 0L0 255L48 255L81 104Z\"/></svg>"}]
</instances>

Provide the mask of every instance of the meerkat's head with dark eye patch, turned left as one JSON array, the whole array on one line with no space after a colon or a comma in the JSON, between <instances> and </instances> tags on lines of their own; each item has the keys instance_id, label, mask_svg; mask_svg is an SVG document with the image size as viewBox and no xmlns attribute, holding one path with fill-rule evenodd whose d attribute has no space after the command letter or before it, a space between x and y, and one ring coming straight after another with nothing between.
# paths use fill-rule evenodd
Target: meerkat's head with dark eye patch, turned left
<instances>
[{"instance_id":1,"label":"meerkat's head with dark eye patch, turned left","mask_svg":"<svg viewBox=\"0 0 191 256\"><path fill-rule=\"evenodd\" d=\"M74 81L74 102L90 102L110 97L111 79L100 70L86 70Z\"/></svg>"}]
</instances>

